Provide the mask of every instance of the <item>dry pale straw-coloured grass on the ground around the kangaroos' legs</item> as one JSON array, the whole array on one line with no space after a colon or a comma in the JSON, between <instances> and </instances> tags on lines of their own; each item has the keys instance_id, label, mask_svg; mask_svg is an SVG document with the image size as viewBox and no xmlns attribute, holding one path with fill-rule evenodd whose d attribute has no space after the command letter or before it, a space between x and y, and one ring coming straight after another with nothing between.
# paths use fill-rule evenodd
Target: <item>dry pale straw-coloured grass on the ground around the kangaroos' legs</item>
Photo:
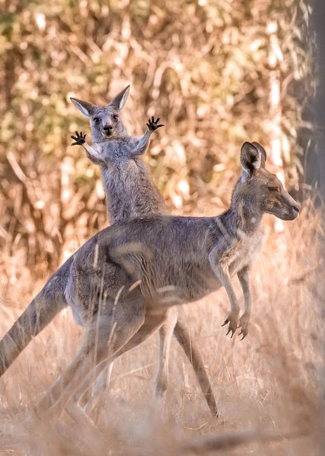
<instances>
[{"instance_id":1,"label":"dry pale straw-coloured grass on the ground around the kangaroos' legs","mask_svg":"<svg viewBox=\"0 0 325 456\"><path fill-rule=\"evenodd\" d=\"M214 213L211 202L201 204L200 213ZM267 219L267 227L269 222ZM188 324L218 399L219 420L210 415L174 340L167 416L160 421L150 409L156 336L115 363L107 400L92 415L102 438L87 426L73 424L67 416L65 430L58 430L51 417L41 422L34 419L28 408L66 366L80 341L80 329L68 311L30 343L0 381L0 455L185 455L193 454L189 445L198 435L255 427L262 437L249 443L250 434L244 431L237 438L244 435L248 443L220 451L317 454L322 419L322 392L317 382L322 368L319 315L324 302L320 230L317 214L307 206L298 221L285 225L283 233L267 230L267 242L254 264L252 323L243 342L239 337L225 337L220 326L229 307L224 290L186 307ZM237 280L234 283L241 296ZM30 283L22 280L1 290L1 334L41 286L33 284L30 292ZM263 434L300 429L311 429L313 434L273 443ZM224 437L235 443L227 434ZM209 453L207 449L196 454Z\"/></svg>"}]
</instances>

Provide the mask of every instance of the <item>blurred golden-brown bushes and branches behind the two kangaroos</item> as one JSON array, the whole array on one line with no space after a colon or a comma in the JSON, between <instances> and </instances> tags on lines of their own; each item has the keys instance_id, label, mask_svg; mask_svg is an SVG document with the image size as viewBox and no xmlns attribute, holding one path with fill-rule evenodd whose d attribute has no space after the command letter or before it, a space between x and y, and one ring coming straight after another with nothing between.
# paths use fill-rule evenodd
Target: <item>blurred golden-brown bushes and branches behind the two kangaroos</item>
<instances>
[{"instance_id":1,"label":"blurred golden-brown bushes and branches behind the two kangaroos","mask_svg":"<svg viewBox=\"0 0 325 456\"><path fill-rule=\"evenodd\" d=\"M127 83L123 119L166 126L144 157L171 210L220 212L239 150L259 141L295 197L304 188L313 93L303 0L0 0L0 268L53 269L107 224L100 170L69 97L105 104ZM308 109L308 106L307 106ZM12 271L10 273L10 271ZM47 272L46 272L47 275ZM4 284L5 285L5 284Z\"/></svg>"}]
</instances>

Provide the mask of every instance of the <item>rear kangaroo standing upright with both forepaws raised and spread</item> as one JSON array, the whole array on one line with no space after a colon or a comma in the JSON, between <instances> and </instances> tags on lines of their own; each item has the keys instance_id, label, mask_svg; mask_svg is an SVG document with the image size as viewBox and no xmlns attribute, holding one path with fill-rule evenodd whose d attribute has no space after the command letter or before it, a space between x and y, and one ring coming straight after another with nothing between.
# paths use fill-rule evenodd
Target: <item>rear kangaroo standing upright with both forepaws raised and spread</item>
<instances>
[{"instance_id":1,"label":"rear kangaroo standing upright with both forepaws raised and spread","mask_svg":"<svg viewBox=\"0 0 325 456\"><path fill-rule=\"evenodd\" d=\"M131 217L148 214L168 214L161 194L155 186L152 176L142 161L153 131L163 125L158 124L159 117L148 119L147 130L140 138L127 135L120 117L125 106L130 86L127 86L110 104L104 107L71 98L82 114L90 118L92 143L86 142L86 135L71 136L73 145L82 145L92 163L99 165L106 192L106 201L110 224ZM217 415L217 406L211 385L197 347L190 337L184 319L178 317L178 308L167 311L167 320L159 329L158 368L154 382L154 396L163 395L168 383L168 355L172 334L183 347L205 395L208 406ZM84 410L89 413L103 391L112 372L112 365L96 381L91 398Z\"/></svg>"}]
</instances>

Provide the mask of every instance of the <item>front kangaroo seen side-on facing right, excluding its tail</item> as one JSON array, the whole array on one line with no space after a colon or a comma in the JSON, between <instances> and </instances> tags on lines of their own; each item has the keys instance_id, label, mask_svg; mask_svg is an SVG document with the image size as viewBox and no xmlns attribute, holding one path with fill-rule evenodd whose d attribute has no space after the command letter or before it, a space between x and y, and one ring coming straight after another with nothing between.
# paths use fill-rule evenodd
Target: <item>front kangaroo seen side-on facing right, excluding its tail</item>
<instances>
[{"instance_id":1,"label":"front kangaroo seen side-on facing right, excluding its tail","mask_svg":"<svg viewBox=\"0 0 325 456\"><path fill-rule=\"evenodd\" d=\"M262 243L263 214L294 220L300 212L279 179L265 170L265 159L262 146L244 143L242 174L229 209L218 217L128 219L103 229L76 252L65 296L86 326L85 337L36 408L54 404L61 413L75 391L80 397L89 388L92 370L99 375L107 362L157 331L166 320L165 309L197 301L222 286L230 301L230 330L234 333L239 325L247 332L249 267ZM235 274L244 292L240 319L231 285ZM2 371L7 367L4 358Z\"/></svg>"}]
</instances>

